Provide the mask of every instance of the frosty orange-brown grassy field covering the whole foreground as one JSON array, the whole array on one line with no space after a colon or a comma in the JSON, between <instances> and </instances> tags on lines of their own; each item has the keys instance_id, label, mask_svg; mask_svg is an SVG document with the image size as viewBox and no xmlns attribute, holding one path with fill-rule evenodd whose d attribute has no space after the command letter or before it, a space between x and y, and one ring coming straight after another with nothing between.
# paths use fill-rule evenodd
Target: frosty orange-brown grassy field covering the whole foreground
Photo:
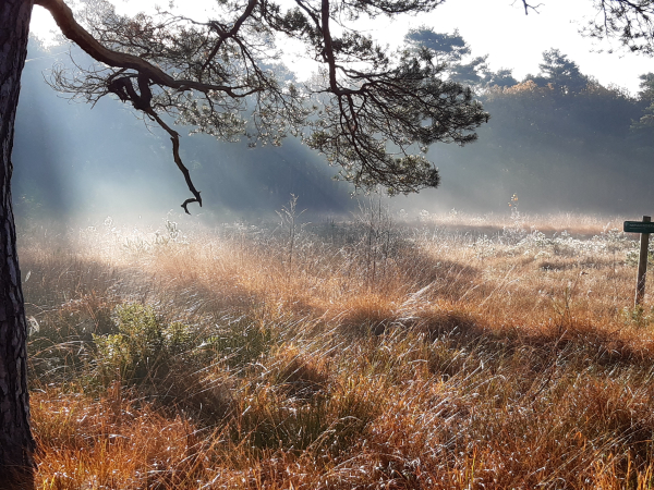
<instances>
[{"instance_id":1,"label":"frosty orange-brown grassy field covering the whole foreground","mask_svg":"<svg viewBox=\"0 0 654 490\"><path fill-rule=\"evenodd\" d=\"M618 220L21 236L39 489L647 489Z\"/></svg>"}]
</instances>

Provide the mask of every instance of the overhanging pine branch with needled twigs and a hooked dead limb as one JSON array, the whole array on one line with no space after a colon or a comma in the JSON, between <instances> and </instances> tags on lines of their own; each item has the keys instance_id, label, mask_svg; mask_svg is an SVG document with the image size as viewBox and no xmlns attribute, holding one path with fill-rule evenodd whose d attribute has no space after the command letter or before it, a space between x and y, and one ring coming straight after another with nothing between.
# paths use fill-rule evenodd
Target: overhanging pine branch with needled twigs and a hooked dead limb
<instances>
[{"instance_id":1,"label":"overhanging pine branch with needled twigs and a hooked dead limb","mask_svg":"<svg viewBox=\"0 0 654 490\"><path fill-rule=\"evenodd\" d=\"M74 74L57 71L52 85L89 102L112 94L161 126L193 194L182 205L186 212L202 197L180 157L171 119L253 144L298 135L356 187L382 185L397 194L436 187L438 171L424 157L426 148L470 143L488 118L469 88L441 79L443 65L420 53L388 52L354 27L362 14L426 12L438 1L296 0L290 8L231 1L221 2L215 19L199 22L167 11L122 16L96 0L81 23L61 0L37 3L99 62ZM323 65L311 85L280 76L279 37L303 42Z\"/></svg>"}]
</instances>

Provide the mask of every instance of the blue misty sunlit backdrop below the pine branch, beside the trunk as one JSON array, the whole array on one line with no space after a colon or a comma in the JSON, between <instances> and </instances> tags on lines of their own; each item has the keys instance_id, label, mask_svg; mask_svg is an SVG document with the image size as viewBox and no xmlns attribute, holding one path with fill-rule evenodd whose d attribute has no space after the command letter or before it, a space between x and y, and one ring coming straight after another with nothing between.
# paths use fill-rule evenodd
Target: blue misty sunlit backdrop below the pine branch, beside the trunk
<instances>
[{"instance_id":1,"label":"blue misty sunlit backdrop below the pine branch, beside the trunk","mask_svg":"<svg viewBox=\"0 0 654 490\"><path fill-rule=\"evenodd\" d=\"M190 193L168 135L118 100L106 97L92 107L51 89L46 81L52 65L71 64L61 51L29 44L13 151L17 217L89 221L183 212ZM354 207L350 186L332 179L337 170L298 139L251 148L247 140L177 130L181 157L203 196L202 208L190 207L193 215L220 221L270 217L291 195L312 213Z\"/></svg>"}]
</instances>

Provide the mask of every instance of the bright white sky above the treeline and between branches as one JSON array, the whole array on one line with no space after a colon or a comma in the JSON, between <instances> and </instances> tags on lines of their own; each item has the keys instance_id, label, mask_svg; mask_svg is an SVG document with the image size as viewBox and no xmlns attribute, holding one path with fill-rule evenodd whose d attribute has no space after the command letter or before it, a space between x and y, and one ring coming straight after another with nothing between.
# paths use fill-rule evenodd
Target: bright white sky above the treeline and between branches
<instances>
[{"instance_id":1,"label":"bright white sky above the treeline and between branches","mask_svg":"<svg viewBox=\"0 0 654 490\"><path fill-rule=\"evenodd\" d=\"M167 5L156 0L114 3L119 12L132 14L157 3ZM580 27L595 14L592 0L540 0L540 3L537 12L525 15L520 0L448 0L429 14L392 22L363 19L358 27L390 47L399 46L412 27L427 25L441 33L459 29L473 56L489 54L491 69L513 69L518 79L528 73L536 74L542 53L549 48L560 49L579 64L582 73L596 77L603 85L625 87L632 94L638 91L639 75L654 72L654 59L620 51L616 41L598 45L579 34ZM186 1L183 10L187 15L202 17L210 5L210 0ZM53 28L49 14L35 7L32 32L47 38ZM615 52L607 52L611 49ZM287 52L287 63L299 71L301 78L308 76L313 65L292 49Z\"/></svg>"}]
</instances>

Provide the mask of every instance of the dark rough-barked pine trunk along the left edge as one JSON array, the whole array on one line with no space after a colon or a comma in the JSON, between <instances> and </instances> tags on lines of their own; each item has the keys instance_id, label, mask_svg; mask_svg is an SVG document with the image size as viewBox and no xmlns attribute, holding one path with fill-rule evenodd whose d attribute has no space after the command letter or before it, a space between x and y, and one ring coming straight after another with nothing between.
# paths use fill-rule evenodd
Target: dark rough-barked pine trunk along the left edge
<instances>
[{"instance_id":1,"label":"dark rough-barked pine trunk along the left edge","mask_svg":"<svg viewBox=\"0 0 654 490\"><path fill-rule=\"evenodd\" d=\"M0 489L33 487L26 322L11 206L11 150L33 0L0 0Z\"/></svg>"}]
</instances>

